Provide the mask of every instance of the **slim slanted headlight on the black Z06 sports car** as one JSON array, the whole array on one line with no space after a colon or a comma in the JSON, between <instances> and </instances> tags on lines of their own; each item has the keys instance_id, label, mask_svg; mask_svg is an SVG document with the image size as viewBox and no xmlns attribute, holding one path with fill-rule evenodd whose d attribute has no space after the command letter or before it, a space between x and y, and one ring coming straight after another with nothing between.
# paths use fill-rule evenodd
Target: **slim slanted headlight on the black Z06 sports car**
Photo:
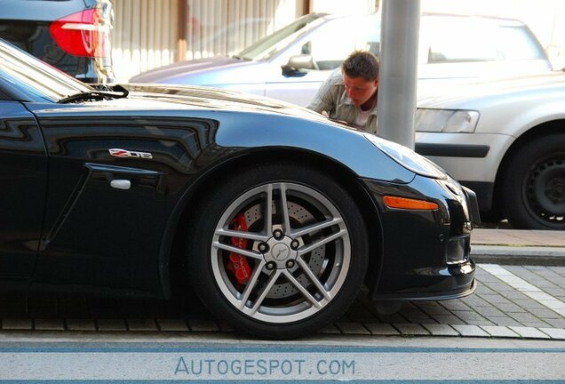
<instances>
[{"instance_id":1,"label":"slim slanted headlight on the black Z06 sports car","mask_svg":"<svg viewBox=\"0 0 565 384\"><path fill-rule=\"evenodd\" d=\"M426 177L447 179L447 175L440 167L426 159L426 157L418 155L410 148L403 147L393 141L381 139L372 133L363 133L363 136L404 168Z\"/></svg>"}]
</instances>

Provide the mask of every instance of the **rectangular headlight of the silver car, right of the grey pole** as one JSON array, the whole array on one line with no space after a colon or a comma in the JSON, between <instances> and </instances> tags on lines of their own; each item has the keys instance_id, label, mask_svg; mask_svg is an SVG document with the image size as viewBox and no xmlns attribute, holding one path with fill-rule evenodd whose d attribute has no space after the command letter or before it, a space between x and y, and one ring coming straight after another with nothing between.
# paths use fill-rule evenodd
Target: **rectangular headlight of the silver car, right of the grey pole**
<instances>
[{"instance_id":1,"label":"rectangular headlight of the silver car, right of the grey pole","mask_svg":"<svg viewBox=\"0 0 565 384\"><path fill-rule=\"evenodd\" d=\"M416 111L417 132L473 133L479 112L457 109L426 109Z\"/></svg>"}]
</instances>

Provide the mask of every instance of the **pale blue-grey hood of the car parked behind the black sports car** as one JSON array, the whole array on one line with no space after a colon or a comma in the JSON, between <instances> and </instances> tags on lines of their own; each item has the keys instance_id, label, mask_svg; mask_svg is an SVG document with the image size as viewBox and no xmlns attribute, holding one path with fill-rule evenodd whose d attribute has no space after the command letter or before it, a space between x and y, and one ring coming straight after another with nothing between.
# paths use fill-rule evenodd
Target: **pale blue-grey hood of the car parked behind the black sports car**
<instances>
[{"instance_id":1,"label":"pale blue-grey hood of the car parked behind the black sports car","mask_svg":"<svg viewBox=\"0 0 565 384\"><path fill-rule=\"evenodd\" d=\"M256 84L264 82L262 61L234 59L225 56L188 60L151 69L131 77L131 83L162 84Z\"/></svg>"}]
</instances>

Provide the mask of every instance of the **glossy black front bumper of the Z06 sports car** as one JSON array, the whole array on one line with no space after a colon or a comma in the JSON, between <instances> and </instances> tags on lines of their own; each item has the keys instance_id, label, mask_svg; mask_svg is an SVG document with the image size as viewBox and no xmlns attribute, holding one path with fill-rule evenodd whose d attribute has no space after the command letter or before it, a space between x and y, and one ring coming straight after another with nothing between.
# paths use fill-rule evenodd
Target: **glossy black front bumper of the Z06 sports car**
<instances>
[{"instance_id":1,"label":"glossy black front bumper of the Z06 sports car","mask_svg":"<svg viewBox=\"0 0 565 384\"><path fill-rule=\"evenodd\" d=\"M473 225L480 224L476 196L455 180L417 176L410 184L363 180L378 204L382 228L378 276L369 279L372 300L456 299L475 289L470 259ZM386 195L439 204L436 211L390 209Z\"/></svg>"}]
</instances>

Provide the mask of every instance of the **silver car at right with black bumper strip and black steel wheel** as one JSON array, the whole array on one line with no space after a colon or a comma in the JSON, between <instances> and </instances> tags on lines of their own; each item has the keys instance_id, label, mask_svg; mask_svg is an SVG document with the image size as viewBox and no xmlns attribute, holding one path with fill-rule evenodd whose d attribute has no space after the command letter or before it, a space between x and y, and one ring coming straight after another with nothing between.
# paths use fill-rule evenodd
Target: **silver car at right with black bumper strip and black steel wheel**
<instances>
[{"instance_id":1,"label":"silver car at right with black bumper strip and black steel wheel","mask_svg":"<svg viewBox=\"0 0 565 384\"><path fill-rule=\"evenodd\" d=\"M565 73L420 95L417 152L472 188L483 220L565 229Z\"/></svg>"}]
</instances>

